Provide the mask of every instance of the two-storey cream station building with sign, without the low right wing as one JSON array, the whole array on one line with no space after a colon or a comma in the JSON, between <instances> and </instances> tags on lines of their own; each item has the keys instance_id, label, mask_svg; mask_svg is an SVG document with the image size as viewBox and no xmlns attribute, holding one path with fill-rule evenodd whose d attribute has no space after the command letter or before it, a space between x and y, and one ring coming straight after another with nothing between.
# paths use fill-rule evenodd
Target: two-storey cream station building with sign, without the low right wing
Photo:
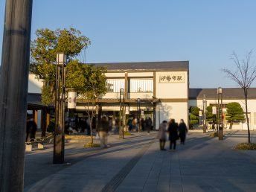
<instances>
[{"instance_id":1,"label":"two-storey cream station building with sign, without the low right wing","mask_svg":"<svg viewBox=\"0 0 256 192\"><path fill-rule=\"evenodd\" d=\"M176 121L184 119L188 124L188 61L96 63L95 66L107 68L108 91L98 100L101 115L118 117L120 89L124 89L124 103L129 109L130 118L150 117L156 129L161 121L168 121L170 118ZM36 80L34 74L30 74L28 95L33 102L28 100L28 108L33 109L30 106L35 103L33 98L38 97L41 87L42 82ZM78 115L86 115L85 107L86 103L77 99ZM42 110L34 112L35 110L33 114L36 113L39 124L42 121Z\"/></svg>"}]
</instances>

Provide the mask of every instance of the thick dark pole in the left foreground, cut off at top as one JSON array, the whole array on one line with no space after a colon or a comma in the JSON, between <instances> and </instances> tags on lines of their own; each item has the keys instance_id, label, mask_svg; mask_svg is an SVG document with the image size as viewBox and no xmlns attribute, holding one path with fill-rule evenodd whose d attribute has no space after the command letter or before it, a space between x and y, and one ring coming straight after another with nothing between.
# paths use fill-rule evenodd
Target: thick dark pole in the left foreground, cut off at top
<instances>
[{"instance_id":1,"label":"thick dark pole in the left foreground, cut off at top","mask_svg":"<svg viewBox=\"0 0 256 192\"><path fill-rule=\"evenodd\" d=\"M0 191L23 191L32 0L7 0L0 80Z\"/></svg>"}]
</instances>

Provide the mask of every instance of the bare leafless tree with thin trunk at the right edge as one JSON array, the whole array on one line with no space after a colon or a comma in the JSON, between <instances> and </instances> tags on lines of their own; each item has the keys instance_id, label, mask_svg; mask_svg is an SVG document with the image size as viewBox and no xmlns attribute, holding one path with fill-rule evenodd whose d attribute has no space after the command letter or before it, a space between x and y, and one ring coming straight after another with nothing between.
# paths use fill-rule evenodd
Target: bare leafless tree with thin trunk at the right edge
<instances>
[{"instance_id":1,"label":"bare leafless tree with thin trunk at the right edge","mask_svg":"<svg viewBox=\"0 0 256 192\"><path fill-rule=\"evenodd\" d=\"M248 117L248 90L256 78L256 66L251 64L252 51L246 55L245 60L239 60L237 54L231 55L231 60L234 61L236 67L235 71L231 71L227 68L223 68L222 71L227 74L231 80L234 80L241 89L243 89L243 95L246 102L246 123L248 129L248 143L251 142L250 125Z\"/></svg>"}]
</instances>

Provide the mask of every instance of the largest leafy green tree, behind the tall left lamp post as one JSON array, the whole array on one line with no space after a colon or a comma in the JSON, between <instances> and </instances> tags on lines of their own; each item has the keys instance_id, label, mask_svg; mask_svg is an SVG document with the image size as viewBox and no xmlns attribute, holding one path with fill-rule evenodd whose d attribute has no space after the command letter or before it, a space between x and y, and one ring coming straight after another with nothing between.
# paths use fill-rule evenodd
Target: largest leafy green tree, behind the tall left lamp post
<instances>
[{"instance_id":1,"label":"largest leafy green tree, behind the tall left lamp post","mask_svg":"<svg viewBox=\"0 0 256 192\"><path fill-rule=\"evenodd\" d=\"M36 30L36 39L31 42L31 71L43 80L42 103L54 103L55 65L57 52L64 52L69 63L90 45L90 40L75 28L48 28Z\"/></svg>"}]
</instances>

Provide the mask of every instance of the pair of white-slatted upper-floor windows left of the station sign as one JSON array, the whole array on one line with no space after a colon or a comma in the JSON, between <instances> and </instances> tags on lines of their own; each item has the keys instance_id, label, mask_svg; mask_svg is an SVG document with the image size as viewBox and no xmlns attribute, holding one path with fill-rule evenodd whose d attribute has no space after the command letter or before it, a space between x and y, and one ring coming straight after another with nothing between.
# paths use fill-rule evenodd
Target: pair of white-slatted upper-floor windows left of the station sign
<instances>
[{"instance_id":1,"label":"pair of white-slatted upper-floor windows left of the station sign","mask_svg":"<svg viewBox=\"0 0 256 192\"><path fill-rule=\"evenodd\" d=\"M106 80L108 92L120 92L120 89L124 89L124 84L123 79ZM153 92L153 79L130 79L128 92Z\"/></svg>"}]
</instances>

